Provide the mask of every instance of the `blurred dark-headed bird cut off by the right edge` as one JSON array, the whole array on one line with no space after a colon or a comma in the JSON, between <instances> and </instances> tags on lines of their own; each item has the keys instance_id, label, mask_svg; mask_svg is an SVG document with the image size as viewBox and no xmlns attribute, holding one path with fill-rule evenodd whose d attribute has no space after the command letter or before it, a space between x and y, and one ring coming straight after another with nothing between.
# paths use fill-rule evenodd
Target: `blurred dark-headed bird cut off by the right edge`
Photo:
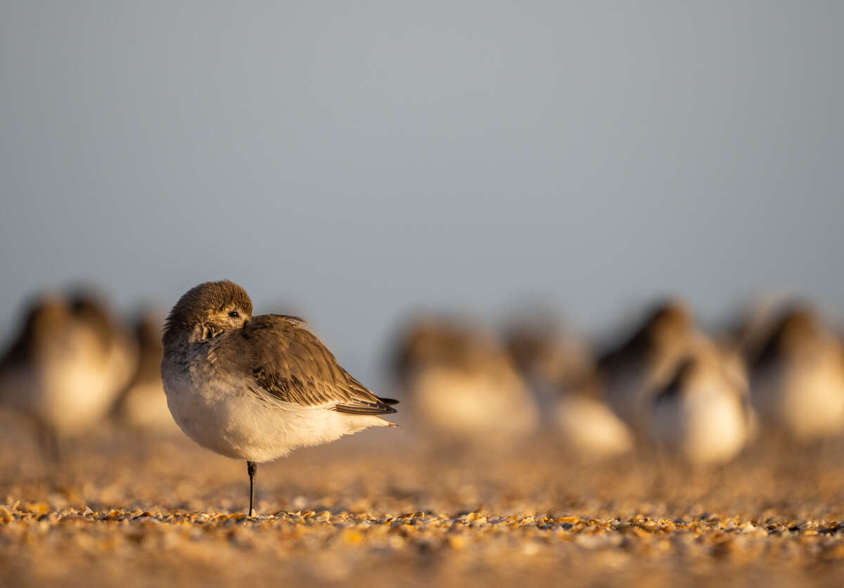
<instances>
[{"instance_id":1,"label":"blurred dark-headed bird cut off by the right edge","mask_svg":"<svg viewBox=\"0 0 844 588\"><path fill-rule=\"evenodd\" d=\"M844 431L844 347L811 305L793 302L781 310L750 384L766 429L801 443Z\"/></svg>"}]
</instances>

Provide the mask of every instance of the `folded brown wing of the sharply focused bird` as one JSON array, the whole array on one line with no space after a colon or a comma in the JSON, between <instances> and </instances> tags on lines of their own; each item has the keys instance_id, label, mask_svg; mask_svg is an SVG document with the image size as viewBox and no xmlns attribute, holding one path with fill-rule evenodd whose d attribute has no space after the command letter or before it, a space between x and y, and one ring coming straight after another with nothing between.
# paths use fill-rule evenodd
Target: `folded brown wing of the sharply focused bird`
<instances>
[{"instance_id":1,"label":"folded brown wing of the sharply focused bird","mask_svg":"<svg viewBox=\"0 0 844 588\"><path fill-rule=\"evenodd\" d=\"M325 407L338 413L388 414L396 410L344 370L295 317L255 316L242 329L220 337L216 363L251 380L282 402Z\"/></svg>"}]
</instances>

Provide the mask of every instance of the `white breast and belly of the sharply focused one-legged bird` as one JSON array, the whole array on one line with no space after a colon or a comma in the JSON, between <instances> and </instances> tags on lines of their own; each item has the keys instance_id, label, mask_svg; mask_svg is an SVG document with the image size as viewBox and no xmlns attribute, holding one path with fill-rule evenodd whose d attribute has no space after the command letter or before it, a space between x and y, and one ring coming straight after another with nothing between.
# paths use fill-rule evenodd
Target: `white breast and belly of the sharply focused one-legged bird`
<instances>
[{"instance_id":1,"label":"white breast and belly of the sharply focused one-legged bird","mask_svg":"<svg viewBox=\"0 0 844 588\"><path fill-rule=\"evenodd\" d=\"M300 447L322 445L345 434L392 423L324 407L262 398L239 380L214 374L197 360L188 370L162 364L167 406L182 431L222 456L272 461Z\"/></svg>"}]
</instances>

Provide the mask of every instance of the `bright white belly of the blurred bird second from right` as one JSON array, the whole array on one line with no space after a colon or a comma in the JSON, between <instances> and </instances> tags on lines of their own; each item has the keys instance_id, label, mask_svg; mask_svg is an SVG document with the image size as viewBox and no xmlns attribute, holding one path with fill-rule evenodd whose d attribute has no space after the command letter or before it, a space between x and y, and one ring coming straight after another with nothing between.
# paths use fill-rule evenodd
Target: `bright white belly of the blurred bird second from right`
<instances>
[{"instance_id":1,"label":"bright white belly of the blurred bird second from right","mask_svg":"<svg viewBox=\"0 0 844 588\"><path fill-rule=\"evenodd\" d=\"M650 433L658 447L685 461L718 464L742 450L749 422L733 391L701 385L656 402Z\"/></svg>"}]
</instances>

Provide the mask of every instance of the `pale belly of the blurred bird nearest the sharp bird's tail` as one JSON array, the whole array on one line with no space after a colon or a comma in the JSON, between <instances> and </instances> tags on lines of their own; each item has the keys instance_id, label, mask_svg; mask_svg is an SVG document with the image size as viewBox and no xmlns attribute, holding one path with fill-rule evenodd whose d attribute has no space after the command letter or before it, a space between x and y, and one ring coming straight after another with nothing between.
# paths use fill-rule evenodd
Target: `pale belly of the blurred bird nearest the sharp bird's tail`
<instances>
[{"instance_id":1,"label":"pale belly of the blurred bird nearest the sharp bird's tail","mask_svg":"<svg viewBox=\"0 0 844 588\"><path fill-rule=\"evenodd\" d=\"M536 402L511 370L432 366L411 377L408 396L419 424L448 440L509 441L538 425Z\"/></svg>"}]
</instances>

